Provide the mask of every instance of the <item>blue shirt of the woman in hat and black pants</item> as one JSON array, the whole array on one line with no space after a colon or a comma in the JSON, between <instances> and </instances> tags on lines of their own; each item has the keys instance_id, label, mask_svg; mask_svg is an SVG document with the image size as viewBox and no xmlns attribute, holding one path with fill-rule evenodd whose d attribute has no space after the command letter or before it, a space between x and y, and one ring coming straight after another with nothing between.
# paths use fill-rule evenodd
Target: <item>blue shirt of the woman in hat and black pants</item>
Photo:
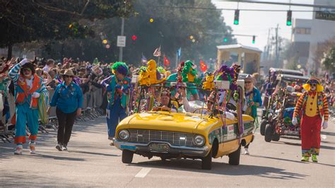
<instances>
[{"instance_id":1,"label":"blue shirt of the woman in hat and black pants","mask_svg":"<svg viewBox=\"0 0 335 188\"><path fill-rule=\"evenodd\" d=\"M50 106L57 106L61 112L66 114L75 112L83 106L83 92L75 83L71 83L69 86L61 83L54 91Z\"/></svg>"}]
</instances>

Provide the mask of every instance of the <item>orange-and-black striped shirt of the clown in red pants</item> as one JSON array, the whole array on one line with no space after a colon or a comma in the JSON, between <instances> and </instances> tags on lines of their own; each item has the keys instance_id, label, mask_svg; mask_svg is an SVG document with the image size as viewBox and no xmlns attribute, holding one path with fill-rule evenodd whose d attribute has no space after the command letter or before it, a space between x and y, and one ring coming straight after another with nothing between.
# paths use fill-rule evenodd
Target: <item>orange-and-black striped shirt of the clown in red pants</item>
<instances>
[{"instance_id":1,"label":"orange-and-black striped shirt of the clown in red pants","mask_svg":"<svg viewBox=\"0 0 335 188\"><path fill-rule=\"evenodd\" d=\"M307 95L307 96L306 96ZM305 91L305 93L303 93L297 104L295 105L295 109L294 109L294 112L293 112L293 117L298 117L298 115L300 114L301 111L305 111L305 109L302 109L302 108L305 108L305 103L307 101L307 98L308 96L315 96L317 95L316 92L312 92L312 91ZM322 100L322 102L320 101ZM328 111L328 102L327 102L327 97L326 95L324 95L323 92L320 92L318 93L317 95L317 114L320 115L320 117L322 117L322 114L321 112L319 112L319 104L322 104L322 107L323 107L323 112L324 112L324 121L328 121L328 117L329 117L329 111ZM305 112L304 112L305 114Z\"/></svg>"}]
</instances>

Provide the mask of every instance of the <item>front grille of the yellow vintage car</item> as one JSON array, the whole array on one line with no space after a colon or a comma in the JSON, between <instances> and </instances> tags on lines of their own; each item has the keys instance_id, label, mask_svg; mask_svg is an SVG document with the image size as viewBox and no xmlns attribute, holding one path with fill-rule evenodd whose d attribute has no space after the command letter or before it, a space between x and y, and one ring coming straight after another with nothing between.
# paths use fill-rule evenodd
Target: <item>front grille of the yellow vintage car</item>
<instances>
[{"instance_id":1,"label":"front grille of the yellow vintage car","mask_svg":"<svg viewBox=\"0 0 335 188\"><path fill-rule=\"evenodd\" d=\"M165 141L172 146L194 146L192 133L175 131L156 131L146 129L129 129L131 142L149 143L151 141Z\"/></svg>"}]
</instances>

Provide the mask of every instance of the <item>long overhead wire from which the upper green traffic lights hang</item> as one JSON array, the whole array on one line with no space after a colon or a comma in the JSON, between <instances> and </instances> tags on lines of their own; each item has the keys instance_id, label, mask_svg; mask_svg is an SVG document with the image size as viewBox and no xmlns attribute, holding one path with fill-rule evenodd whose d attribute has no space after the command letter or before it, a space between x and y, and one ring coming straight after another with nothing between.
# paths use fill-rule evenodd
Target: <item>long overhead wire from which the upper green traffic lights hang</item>
<instances>
[{"instance_id":1,"label":"long overhead wire from which the upper green traffic lights hang","mask_svg":"<svg viewBox=\"0 0 335 188\"><path fill-rule=\"evenodd\" d=\"M211 7L194 7L194 6L149 6L154 8L180 8L180 9L197 9L197 10L214 10L214 11L235 11L236 8L211 8ZM288 10L268 10L268 9L239 9L240 11L264 11L264 12L287 12ZM291 10L293 12L316 12L314 10Z\"/></svg>"}]
</instances>

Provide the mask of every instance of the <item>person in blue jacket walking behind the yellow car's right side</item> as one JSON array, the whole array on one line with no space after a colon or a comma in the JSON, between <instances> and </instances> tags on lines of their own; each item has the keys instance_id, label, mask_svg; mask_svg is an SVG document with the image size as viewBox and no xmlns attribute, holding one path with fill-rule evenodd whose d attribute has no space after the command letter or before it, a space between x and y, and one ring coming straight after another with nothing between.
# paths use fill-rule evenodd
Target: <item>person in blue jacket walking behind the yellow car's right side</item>
<instances>
[{"instance_id":1,"label":"person in blue jacket walking behind the yellow car's right side","mask_svg":"<svg viewBox=\"0 0 335 188\"><path fill-rule=\"evenodd\" d=\"M251 75L245 77L245 102L243 104L243 114L248 114L257 121L257 107L261 106L261 93L254 87L254 78ZM256 122L258 124L258 122ZM245 155L249 155L249 144L245 146Z\"/></svg>"}]
</instances>

